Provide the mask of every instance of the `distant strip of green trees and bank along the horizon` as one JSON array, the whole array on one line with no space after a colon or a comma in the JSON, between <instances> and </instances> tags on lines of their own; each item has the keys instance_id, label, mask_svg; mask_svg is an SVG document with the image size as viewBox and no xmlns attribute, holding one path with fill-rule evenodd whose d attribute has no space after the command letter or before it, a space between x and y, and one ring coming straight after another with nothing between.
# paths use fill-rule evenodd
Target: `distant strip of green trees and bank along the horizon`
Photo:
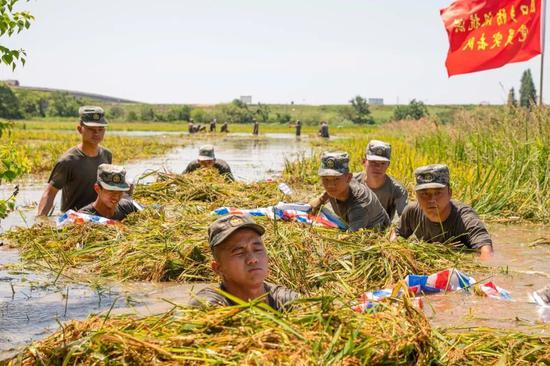
<instances>
[{"instance_id":1,"label":"distant strip of green trees and bank along the horizon","mask_svg":"<svg viewBox=\"0 0 550 366\"><path fill-rule=\"evenodd\" d=\"M8 88L6 86L6 88ZM45 118L45 121L59 117L78 117L82 105L100 105L111 121L121 122L170 122L180 124L193 119L196 123L208 123L216 118L218 122L249 124L257 119L262 124L288 124L301 120L304 126L317 126L320 121L328 121L331 126L351 126L354 124L381 124L394 118L396 106L370 106L362 97L354 98L349 105L297 105L297 104L244 104L240 100L216 105L184 104L143 104L112 103L90 97L74 96L62 91L33 90L13 87L16 100L10 113L0 108L0 118L30 119ZM397 106L400 108L400 106ZM471 109L472 106L425 106L430 115L448 123L457 111ZM491 107L487 107L491 108ZM418 109L418 108L417 108ZM416 115L416 114L414 114ZM413 116L413 114L411 114Z\"/></svg>"}]
</instances>

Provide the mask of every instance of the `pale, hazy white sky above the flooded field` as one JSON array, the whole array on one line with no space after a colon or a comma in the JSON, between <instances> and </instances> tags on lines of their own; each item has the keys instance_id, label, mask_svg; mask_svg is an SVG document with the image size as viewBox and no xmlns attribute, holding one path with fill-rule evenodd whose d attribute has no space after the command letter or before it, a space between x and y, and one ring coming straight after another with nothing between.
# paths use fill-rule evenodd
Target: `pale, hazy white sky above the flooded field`
<instances>
[{"instance_id":1,"label":"pale, hazy white sky above the flooded field","mask_svg":"<svg viewBox=\"0 0 550 366\"><path fill-rule=\"evenodd\" d=\"M147 103L500 104L540 56L447 77L436 0L30 0L27 51L1 79ZM548 59L548 58L547 58ZM548 61L547 61L548 63ZM549 74L550 75L550 74ZM550 93L550 80L544 89ZM550 94L544 98L550 101Z\"/></svg>"}]
</instances>

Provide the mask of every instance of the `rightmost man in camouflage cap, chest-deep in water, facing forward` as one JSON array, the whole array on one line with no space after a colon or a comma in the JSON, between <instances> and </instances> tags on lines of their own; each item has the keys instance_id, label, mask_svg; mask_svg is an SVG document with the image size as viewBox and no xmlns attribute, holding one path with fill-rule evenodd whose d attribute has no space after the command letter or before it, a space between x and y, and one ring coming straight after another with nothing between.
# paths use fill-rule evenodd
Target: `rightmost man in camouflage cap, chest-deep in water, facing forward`
<instances>
[{"instance_id":1,"label":"rightmost man in camouflage cap, chest-deep in water, facing forward","mask_svg":"<svg viewBox=\"0 0 550 366\"><path fill-rule=\"evenodd\" d=\"M451 200L447 165L423 166L414 175L418 202L405 208L396 234L404 238L414 234L429 243L459 242L477 249L481 259L491 257L493 243L477 213L470 206Z\"/></svg>"}]
</instances>

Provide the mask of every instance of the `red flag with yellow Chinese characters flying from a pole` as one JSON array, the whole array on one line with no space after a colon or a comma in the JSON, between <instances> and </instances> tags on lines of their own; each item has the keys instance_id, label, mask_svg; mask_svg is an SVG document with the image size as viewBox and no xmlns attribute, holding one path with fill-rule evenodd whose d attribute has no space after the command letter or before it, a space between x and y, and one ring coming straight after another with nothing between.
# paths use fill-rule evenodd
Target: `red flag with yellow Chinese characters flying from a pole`
<instances>
[{"instance_id":1,"label":"red flag with yellow Chinese characters flying from a pole","mask_svg":"<svg viewBox=\"0 0 550 366\"><path fill-rule=\"evenodd\" d=\"M449 76L539 55L541 13L541 0L457 0L442 9Z\"/></svg>"}]
</instances>

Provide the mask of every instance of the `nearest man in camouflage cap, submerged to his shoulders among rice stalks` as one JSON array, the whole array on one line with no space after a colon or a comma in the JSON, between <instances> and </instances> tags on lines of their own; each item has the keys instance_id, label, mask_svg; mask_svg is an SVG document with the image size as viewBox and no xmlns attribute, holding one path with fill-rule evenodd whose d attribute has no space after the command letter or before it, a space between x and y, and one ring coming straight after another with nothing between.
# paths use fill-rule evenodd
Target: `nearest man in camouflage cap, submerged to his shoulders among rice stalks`
<instances>
[{"instance_id":1,"label":"nearest man in camouflage cap, submerged to his shoulders among rice stalks","mask_svg":"<svg viewBox=\"0 0 550 366\"><path fill-rule=\"evenodd\" d=\"M265 282L269 272L267 251L262 242L265 230L242 215L224 216L208 227L208 244L214 259L211 266L221 278L219 289L250 301L265 296L275 310L288 309L298 294ZM267 295L267 296L266 296ZM204 288L190 303L193 307L231 306L233 301L214 288Z\"/></svg>"}]
</instances>

